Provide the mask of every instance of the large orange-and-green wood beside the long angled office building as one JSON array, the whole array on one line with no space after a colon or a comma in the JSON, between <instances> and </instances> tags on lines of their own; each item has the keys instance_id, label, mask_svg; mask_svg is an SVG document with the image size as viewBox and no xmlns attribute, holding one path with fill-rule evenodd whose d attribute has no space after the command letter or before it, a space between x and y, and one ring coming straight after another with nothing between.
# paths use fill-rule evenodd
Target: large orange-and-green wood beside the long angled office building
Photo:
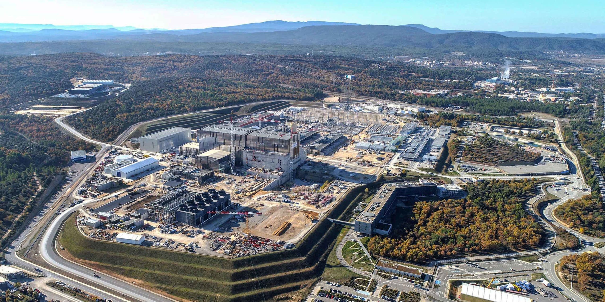
<instances>
[{"instance_id":1,"label":"large orange-and-green wood beside the long angled office building","mask_svg":"<svg viewBox=\"0 0 605 302\"><path fill-rule=\"evenodd\" d=\"M476 252L535 248L544 236L523 209L536 179L493 180L467 185L465 199L420 201L410 217L397 210L391 237L374 236L368 249L376 255L410 262L459 257Z\"/></svg>"}]
</instances>

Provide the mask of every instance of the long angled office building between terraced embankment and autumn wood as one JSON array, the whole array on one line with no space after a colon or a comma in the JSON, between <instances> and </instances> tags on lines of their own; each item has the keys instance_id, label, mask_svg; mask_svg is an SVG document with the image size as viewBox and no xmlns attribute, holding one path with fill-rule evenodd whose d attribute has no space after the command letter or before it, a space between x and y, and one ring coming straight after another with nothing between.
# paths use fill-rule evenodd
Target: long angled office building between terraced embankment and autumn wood
<instances>
[{"instance_id":1,"label":"long angled office building between terraced embankment and autumn wood","mask_svg":"<svg viewBox=\"0 0 605 302\"><path fill-rule=\"evenodd\" d=\"M464 191L457 185L437 185L422 180L384 184L355 219L355 231L366 236L373 234L388 236L391 232L391 225L382 220L397 199L422 196L456 197L462 194Z\"/></svg>"}]
</instances>

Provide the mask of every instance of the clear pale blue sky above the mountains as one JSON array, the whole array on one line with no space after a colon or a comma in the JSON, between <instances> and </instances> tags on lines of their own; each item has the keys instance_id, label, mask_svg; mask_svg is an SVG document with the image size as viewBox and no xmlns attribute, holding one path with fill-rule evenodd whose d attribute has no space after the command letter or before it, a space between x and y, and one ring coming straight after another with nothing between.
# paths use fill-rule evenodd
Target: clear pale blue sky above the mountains
<instances>
[{"instance_id":1,"label":"clear pale blue sky above the mountains","mask_svg":"<svg viewBox=\"0 0 605 302\"><path fill-rule=\"evenodd\" d=\"M0 0L0 22L168 29L317 20L424 24L455 30L605 33L604 12L603 0Z\"/></svg>"}]
</instances>

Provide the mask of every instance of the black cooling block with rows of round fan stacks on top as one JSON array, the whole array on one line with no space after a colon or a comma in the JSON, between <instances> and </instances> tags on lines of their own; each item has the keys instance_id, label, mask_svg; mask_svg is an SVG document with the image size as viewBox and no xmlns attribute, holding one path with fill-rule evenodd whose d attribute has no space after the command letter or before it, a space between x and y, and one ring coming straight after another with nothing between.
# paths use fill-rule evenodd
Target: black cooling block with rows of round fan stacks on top
<instances>
[{"instance_id":1,"label":"black cooling block with rows of round fan stacks on top","mask_svg":"<svg viewBox=\"0 0 605 302\"><path fill-rule=\"evenodd\" d=\"M231 195L224 190L209 189L199 193L177 188L155 199L151 207L158 221L198 226L215 215L212 211L222 211L229 205Z\"/></svg>"}]
</instances>

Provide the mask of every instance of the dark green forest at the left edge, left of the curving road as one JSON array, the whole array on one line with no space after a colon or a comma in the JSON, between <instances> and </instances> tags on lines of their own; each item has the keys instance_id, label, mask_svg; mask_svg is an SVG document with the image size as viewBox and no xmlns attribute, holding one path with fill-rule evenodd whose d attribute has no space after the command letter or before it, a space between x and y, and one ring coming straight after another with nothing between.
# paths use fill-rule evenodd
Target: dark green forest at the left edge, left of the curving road
<instances>
[{"instance_id":1,"label":"dark green forest at the left edge, left of the curving road","mask_svg":"<svg viewBox=\"0 0 605 302\"><path fill-rule=\"evenodd\" d=\"M69 150L94 149L62 132L50 117L0 115L0 246L34 207L34 199L47 187Z\"/></svg>"}]
</instances>

